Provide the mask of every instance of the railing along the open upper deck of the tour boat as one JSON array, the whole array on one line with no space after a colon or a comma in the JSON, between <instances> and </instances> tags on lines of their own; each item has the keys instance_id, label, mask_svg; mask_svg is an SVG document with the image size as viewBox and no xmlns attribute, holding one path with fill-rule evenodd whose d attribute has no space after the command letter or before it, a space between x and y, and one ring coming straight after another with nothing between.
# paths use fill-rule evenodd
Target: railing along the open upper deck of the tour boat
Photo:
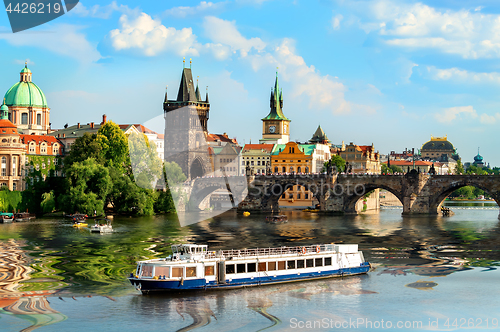
<instances>
[{"instance_id":1,"label":"railing along the open upper deck of the tour boat","mask_svg":"<svg viewBox=\"0 0 500 332\"><path fill-rule=\"evenodd\" d=\"M333 244L316 244L311 246L279 247L279 248L257 248L240 250L209 251L205 258L233 258L233 257L255 257L255 256L281 256L287 254L310 254L334 251Z\"/></svg>"}]
</instances>

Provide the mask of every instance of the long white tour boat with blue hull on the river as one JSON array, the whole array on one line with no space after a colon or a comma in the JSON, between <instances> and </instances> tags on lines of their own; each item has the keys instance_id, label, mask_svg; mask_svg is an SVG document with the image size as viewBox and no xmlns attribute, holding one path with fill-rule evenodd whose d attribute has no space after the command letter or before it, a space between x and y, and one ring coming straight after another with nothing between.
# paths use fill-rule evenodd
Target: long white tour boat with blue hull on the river
<instances>
[{"instance_id":1,"label":"long white tour boat with blue hull on the river","mask_svg":"<svg viewBox=\"0 0 500 332\"><path fill-rule=\"evenodd\" d=\"M166 258L137 262L128 278L143 293L228 289L367 273L357 244L208 251L172 245Z\"/></svg>"}]
</instances>

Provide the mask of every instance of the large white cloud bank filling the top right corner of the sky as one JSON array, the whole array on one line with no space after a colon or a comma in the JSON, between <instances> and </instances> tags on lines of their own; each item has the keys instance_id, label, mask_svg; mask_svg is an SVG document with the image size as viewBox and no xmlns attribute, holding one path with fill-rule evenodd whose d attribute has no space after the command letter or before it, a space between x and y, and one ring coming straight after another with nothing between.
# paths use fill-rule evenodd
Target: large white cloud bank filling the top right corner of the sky
<instances>
[{"instance_id":1,"label":"large white cloud bank filling the top right corner of the sky","mask_svg":"<svg viewBox=\"0 0 500 332\"><path fill-rule=\"evenodd\" d=\"M467 59L500 57L500 15L483 14L479 8L441 10L392 0L355 6L370 15L361 28L377 31L389 45L436 49Z\"/></svg>"}]
</instances>

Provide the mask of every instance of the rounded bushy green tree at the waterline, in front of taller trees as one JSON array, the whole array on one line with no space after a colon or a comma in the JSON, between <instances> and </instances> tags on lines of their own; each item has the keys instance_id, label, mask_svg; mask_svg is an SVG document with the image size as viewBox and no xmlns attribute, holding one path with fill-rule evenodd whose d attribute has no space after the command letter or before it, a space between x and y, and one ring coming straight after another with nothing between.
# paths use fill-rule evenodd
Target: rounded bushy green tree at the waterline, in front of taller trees
<instances>
[{"instance_id":1,"label":"rounded bushy green tree at the waterline, in front of taller trees","mask_svg":"<svg viewBox=\"0 0 500 332\"><path fill-rule=\"evenodd\" d=\"M61 197L66 212L104 213L106 197L113 185L106 167L89 158L75 162L66 171L69 190Z\"/></svg>"}]
</instances>

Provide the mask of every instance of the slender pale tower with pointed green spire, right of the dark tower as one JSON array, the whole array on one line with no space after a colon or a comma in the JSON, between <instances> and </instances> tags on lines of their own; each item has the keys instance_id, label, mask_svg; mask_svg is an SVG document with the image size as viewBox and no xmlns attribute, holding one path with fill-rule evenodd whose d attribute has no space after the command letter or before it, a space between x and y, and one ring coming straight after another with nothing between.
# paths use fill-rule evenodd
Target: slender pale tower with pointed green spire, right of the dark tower
<instances>
[{"instance_id":1,"label":"slender pale tower with pointed green spire, right of the dark tower","mask_svg":"<svg viewBox=\"0 0 500 332\"><path fill-rule=\"evenodd\" d=\"M290 141L290 120L283 114L283 92L278 84L278 72L274 90L271 90L271 111L262 119L261 144L286 144Z\"/></svg>"}]
</instances>

